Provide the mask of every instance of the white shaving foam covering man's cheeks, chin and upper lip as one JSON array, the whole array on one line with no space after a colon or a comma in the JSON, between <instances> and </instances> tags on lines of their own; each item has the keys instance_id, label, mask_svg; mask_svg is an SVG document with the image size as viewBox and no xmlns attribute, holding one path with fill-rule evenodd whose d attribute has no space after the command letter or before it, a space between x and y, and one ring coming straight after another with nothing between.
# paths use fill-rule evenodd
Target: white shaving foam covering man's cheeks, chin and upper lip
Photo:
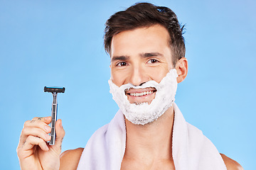
<instances>
[{"instance_id":1,"label":"white shaving foam covering man's cheeks, chin and upper lip","mask_svg":"<svg viewBox=\"0 0 256 170\"><path fill-rule=\"evenodd\" d=\"M120 87L112 82L110 84L110 94L117 103L125 118L137 125L145 125L151 123L167 111L172 106L175 100L177 90L178 74L176 69L171 69L160 83L154 80L147 81L142 86L134 86L132 84L124 84ZM128 89L145 89L154 87L156 89L155 98L151 103L129 103L125 91Z\"/></svg>"}]
</instances>

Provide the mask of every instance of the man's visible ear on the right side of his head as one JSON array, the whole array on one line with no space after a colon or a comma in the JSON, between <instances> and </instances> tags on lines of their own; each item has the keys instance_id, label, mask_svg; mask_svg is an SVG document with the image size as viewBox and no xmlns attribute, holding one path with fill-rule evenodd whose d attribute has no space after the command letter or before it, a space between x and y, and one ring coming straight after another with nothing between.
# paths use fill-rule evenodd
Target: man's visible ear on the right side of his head
<instances>
[{"instance_id":1,"label":"man's visible ear on the right side of his head","mask_svg":"<svg viewBox=\"0 0 256 170\"><path fill-rule=\"evenodd\" d=\"M188 60L185 57L182 57L178 62L176 63L175 69L177 70L177 82L180 83L186 78L186 75L188 74Z\"/></svg>"}]
</instances>

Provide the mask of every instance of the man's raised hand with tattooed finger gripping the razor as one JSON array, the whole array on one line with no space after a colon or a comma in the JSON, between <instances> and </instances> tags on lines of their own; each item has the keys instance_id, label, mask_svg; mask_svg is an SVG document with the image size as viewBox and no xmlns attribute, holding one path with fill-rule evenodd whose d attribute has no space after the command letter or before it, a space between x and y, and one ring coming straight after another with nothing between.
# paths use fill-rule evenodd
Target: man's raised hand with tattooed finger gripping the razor
<instances>
[{"instance_id":1,"label":"man's raised hand with tattooed finger gripping the razor","mask_svg":"<svg viewBox=\"0 0 256 170\"><path fill-rule=\"evenodd\" d=\"M48 145L50 141L51 117L33 118L24 123L20 141L17 147L18 159L22 170L59 169L60 152L65 130L61 120L55 124L55 145Z\"/></svg>"}]
</instances>

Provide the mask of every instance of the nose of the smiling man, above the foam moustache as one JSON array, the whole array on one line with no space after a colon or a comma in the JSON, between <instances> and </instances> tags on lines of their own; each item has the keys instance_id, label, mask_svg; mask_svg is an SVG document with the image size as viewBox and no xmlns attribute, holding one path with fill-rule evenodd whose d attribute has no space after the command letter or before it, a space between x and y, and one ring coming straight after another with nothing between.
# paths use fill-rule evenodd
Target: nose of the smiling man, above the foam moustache
<instances>
[{"instance_id":1,"label":"nose of the smiling man, above the foam moustache","mask_svg":"<svg viewBox=\"0 0 256 170\"><path fill-rule=\"evenodd\" d=\"M146 74L142 67L136 66L136 67L132 67L131 69L132 70L129 78L130 84L134 86L141 86L147 81Z\"/></svg>"}]
</instances>

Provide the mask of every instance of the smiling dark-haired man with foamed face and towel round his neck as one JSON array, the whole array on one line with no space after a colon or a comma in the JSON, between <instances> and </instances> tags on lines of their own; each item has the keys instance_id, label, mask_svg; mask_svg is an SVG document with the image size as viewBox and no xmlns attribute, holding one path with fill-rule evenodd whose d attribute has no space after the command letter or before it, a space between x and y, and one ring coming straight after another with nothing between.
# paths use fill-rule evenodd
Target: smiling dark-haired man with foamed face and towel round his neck
<instances>
[{"instance_id":1,"label":"smiling dark-haired man with foamed face and towel round his neck","mask_svg":"<svg viewBox=\"0 0 256 170\"><path fill-rule=\"evenodd\" d=\"M21 169L242 169L186 123L174 103L177 83L188 72L182 30L173 11L148 3L111 16L105 50L120 111L85 149L60 157L61 120L53 146L46 143L50 117L27 121L17 148Z\"/></svg>"}]
</instances>

